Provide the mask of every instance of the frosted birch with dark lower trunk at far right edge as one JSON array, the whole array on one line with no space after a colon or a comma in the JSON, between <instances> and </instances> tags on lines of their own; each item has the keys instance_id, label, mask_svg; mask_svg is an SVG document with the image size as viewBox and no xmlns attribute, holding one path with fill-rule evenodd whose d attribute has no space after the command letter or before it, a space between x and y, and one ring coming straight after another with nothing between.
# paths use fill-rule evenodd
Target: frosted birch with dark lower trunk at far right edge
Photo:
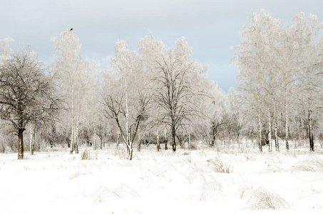
<instances>
[{"instance_id":1,"label":"frosted birch with dark lower trunk at far right edge","mask_svg":"<svg viewBox=\"0 0 323 214\"><path fill-rule=\"evenodd\" d=\"M317 102L319 84L322 83L323 56L322 42L323 36L320 30L323 23L318 24L317 16L309 14L306 19L304 13L299 13L293 19L296 24L297 54L299 63L299 72L297 73L297 83L306 93L304 97L307 99L307 118L308 118L308 137L309 151L314 151L314 134L312 111Z\"/></svg>"}]
</instances>

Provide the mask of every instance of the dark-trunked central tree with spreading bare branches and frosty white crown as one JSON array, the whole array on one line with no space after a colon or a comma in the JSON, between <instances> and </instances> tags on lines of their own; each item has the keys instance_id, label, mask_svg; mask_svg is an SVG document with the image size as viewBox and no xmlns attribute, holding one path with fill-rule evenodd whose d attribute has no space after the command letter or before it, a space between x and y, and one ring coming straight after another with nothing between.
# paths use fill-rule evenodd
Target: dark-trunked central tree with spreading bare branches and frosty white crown
<instances>
[{"instance_id":1,"label":"dark-trunked central tree with spreading bare branches and frosty white crown","mask_svg":"<svg viewBox=\"0 0 323 214\"><path fill-rule=\"evenodd\" d=\"M145 37L138 43L145 61L145 68L153 75L153 101L158 113L157 122L170 127L172 147L176 151L176 133L185 124L192 123L200 109L196 105L198 96L205 92L198 86L205 67L190 56L192 49L184 37L176 46L167 48L159 39Z\"/></svg>"}]
</instances>

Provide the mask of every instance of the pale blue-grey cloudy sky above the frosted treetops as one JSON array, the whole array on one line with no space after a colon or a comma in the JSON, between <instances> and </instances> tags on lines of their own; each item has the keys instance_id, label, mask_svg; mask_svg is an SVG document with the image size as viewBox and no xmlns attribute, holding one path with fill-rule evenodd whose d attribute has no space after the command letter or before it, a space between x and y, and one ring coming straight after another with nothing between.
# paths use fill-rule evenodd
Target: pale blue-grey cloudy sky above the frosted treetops
<instances>
[{"instance_id":1,"label":"pale blue-grey cloudy sky above the frosted treetops","mask_svg":"<svg viewBox=\"0 0 323 214\"><path fill-rule=\"evenodd\" d=\"M184 36L193 47L193 58L208 64L208 78L224 91L235 87L238 74L230 66L230 46L240 44L239 31L249 24L251 11L266 9L284 26L300 11L323 21L322 0L0 0L0 39L30 44L45 63L51 61L53 42L61 31L73 28L85 58L101 62L114 54L121 38L136 50L140 38L151 33L166 46Z\"/></svg>"}]
</instances>

